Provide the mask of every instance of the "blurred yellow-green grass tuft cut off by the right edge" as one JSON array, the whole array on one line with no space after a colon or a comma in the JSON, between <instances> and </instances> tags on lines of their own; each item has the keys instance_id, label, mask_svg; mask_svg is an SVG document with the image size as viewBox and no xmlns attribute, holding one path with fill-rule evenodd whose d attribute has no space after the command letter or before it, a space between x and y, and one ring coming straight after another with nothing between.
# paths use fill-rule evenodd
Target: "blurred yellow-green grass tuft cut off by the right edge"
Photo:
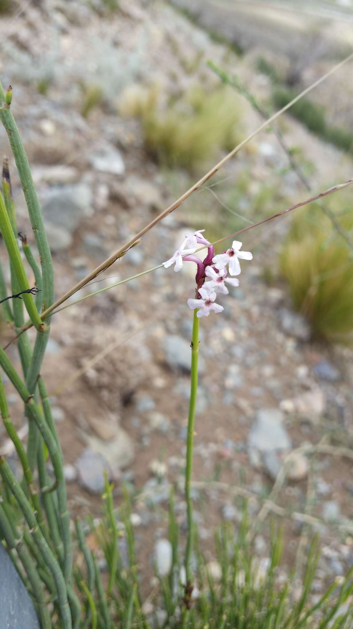
<instances>
[{"instance_id":1,"label":"blurred yellow-green grass tuft cut off by the right edge","mask_svg":"<svg viewBox=\"0 0 353 629\"><path fill-rule=\"evenodd\" d=\"M353 228L353 208L336 212L340 226ZM292 223L281 253L281 270L295 307L313 331L329 340L353 340L353 257L317 204Z\"/></svg>"}]
</instances>

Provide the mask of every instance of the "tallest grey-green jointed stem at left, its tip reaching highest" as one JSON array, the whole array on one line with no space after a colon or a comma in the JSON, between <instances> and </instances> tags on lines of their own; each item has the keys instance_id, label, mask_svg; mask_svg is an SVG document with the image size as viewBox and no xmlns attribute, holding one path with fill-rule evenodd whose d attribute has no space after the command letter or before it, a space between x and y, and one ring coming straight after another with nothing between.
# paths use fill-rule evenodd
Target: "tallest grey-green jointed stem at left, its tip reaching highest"
<instances>
[{"instance_id":1,"label":"tallest grey-green jointed stem at left, its tip reaching highest","mask_svg":"<svg viewBox=\"0 0 353 629\"><path fill-rule=\"evenodd\" d=\"M48 240L46 240L40 204L36 195L35 184L33 183L31 169L28 164L23 142L21 140L21 136L19 135L11 110L8 106L4 105L5 100L6 97L3 86L0 82L0 120L9 136L9 142L13 150L14 160L18 169L19 179L21 180L24 198L26 199L28 208L28 214L30 215L31 226L35 235L38 253L40 255L41 273L43 276L43 309L46 309L52 305L55 292L52 254L50 253Z\"/></svg>"}]
</instances>

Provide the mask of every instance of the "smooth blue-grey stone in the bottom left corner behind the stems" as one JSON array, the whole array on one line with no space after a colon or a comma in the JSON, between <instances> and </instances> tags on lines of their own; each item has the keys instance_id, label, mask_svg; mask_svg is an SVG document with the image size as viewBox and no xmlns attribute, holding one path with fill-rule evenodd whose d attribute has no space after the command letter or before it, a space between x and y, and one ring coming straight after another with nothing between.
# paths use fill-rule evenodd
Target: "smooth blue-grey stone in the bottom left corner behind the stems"
<instances>
[{"instance_id":1,"label":"smooth blue-grey stone in the bottom left corner behind the stems","mask_svg":"<svg viewBox=\"0 0 353 629\"><path fill-rule=\"evenodd\" d=\"M2 543L0 565L0 629L40 629L35 606Z\"/></svg>"}]
</instances>

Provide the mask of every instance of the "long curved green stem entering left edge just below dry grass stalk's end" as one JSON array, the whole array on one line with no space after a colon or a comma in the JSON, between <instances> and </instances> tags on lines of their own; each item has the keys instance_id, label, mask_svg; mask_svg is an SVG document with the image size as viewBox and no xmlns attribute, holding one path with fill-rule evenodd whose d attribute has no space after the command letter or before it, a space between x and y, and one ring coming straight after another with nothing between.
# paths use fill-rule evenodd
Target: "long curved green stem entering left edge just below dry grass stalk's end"
<instances>
[{"instance_id":1,"label":"long curved green stem entering left edge just below dry grass stalk's end","mask_svg":"<svg viewBox=\"0 0 353 629\"><path fill-rule=\"evenodd\" d=\"M23 381L21 381L21 378L18 376L16 369L14 369L13 364L8 359L8 356L1 347L0 366L3 368L4 372L9 377L16 391L18 391L19 395L23 399L26 409L26 415L28 415L30 422L35 421L36 426L38 426L40 433L46 443L46 447L48 448L50 458L52 459L55 480L58 484L57 495L60 518L59 528L64 546L63 572L65 580L69 584L72 578L72 539L70 529L70 515L68 514L67 510L67 492L65 477L63 474L62 452L60 450L60 447L58 447L57 438L55 438L52 433L52 430L55 429L55 426L53 426L51 429L50 426L47 425L40 407L38 406L38 404L35 403L26 385L23 383Z\"/></svg>"}]
</instances>

